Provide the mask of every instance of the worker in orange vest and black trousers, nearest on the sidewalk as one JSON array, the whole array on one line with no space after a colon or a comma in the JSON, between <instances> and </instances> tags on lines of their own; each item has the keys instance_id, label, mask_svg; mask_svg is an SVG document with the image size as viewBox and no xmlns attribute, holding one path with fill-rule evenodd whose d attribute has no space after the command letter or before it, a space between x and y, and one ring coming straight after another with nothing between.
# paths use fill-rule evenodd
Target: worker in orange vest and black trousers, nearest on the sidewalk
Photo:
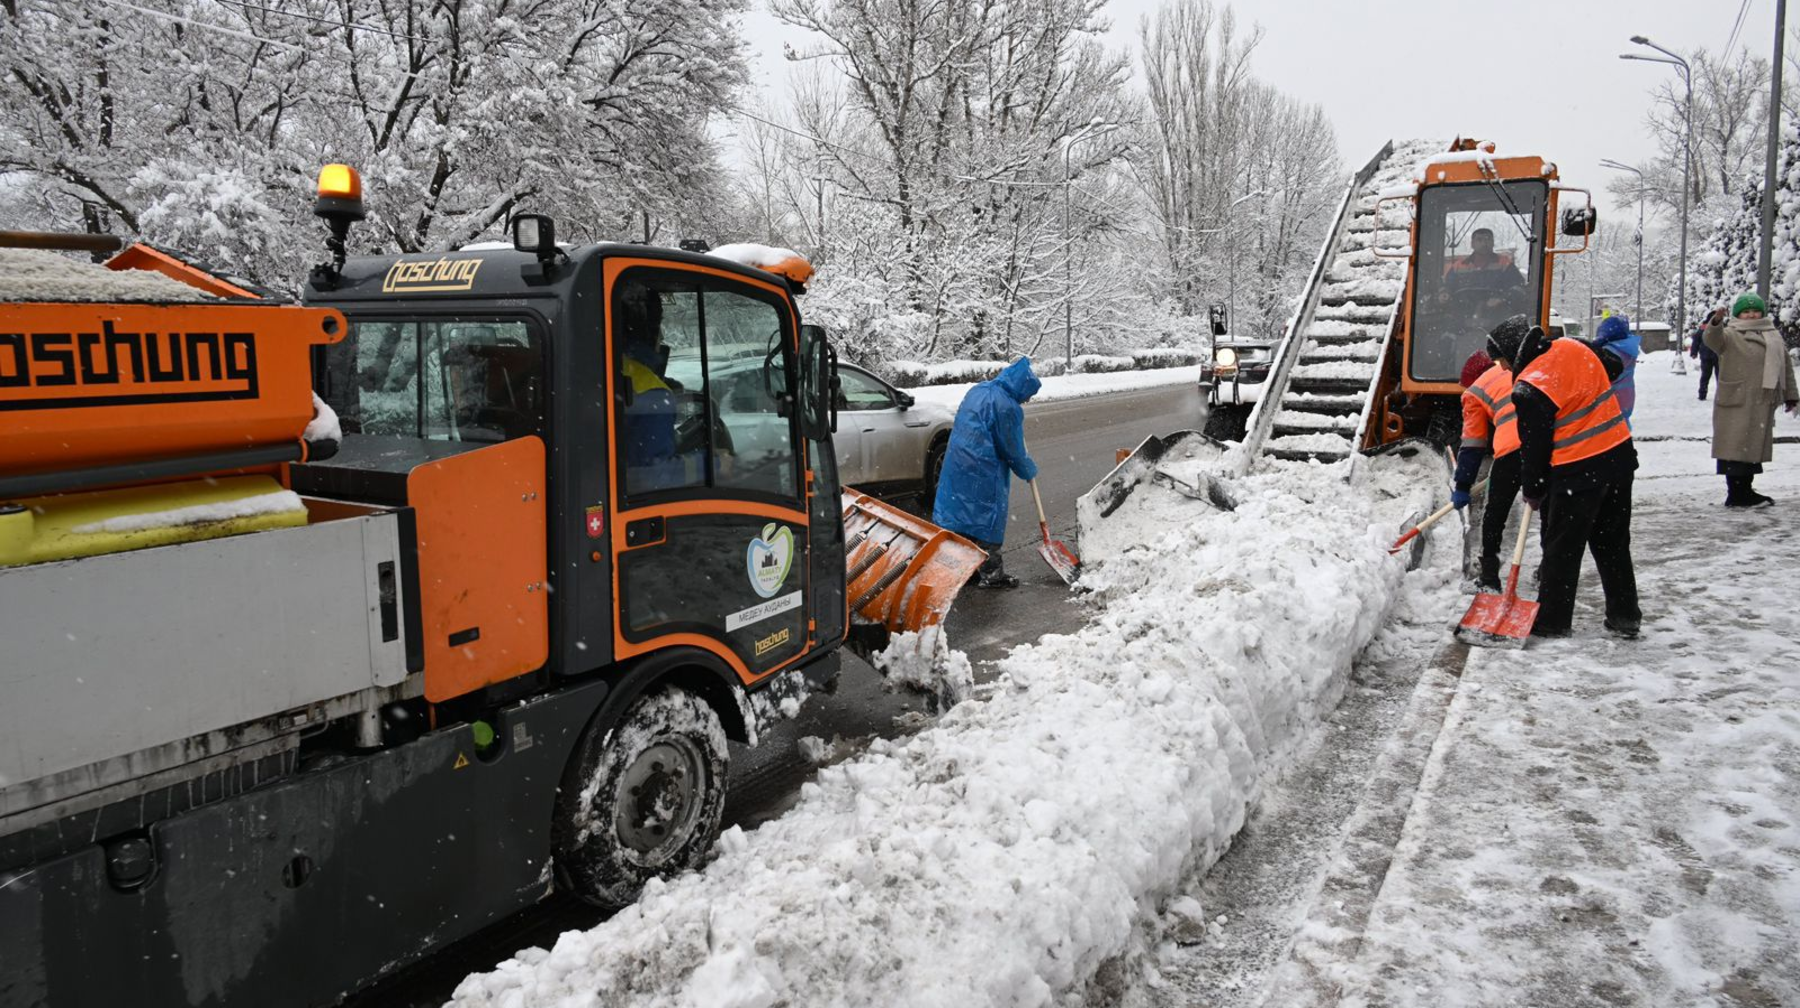
<instances>
[{"instance_id":1,"label":"worker in orange vest and black trousers, nearest on the sidewalk","mask_svg":"<svg viewBox=\"0 0 1800 1008\"><path fill-rule=\"evenodd\" d=\"M1532 635L1570 635L1580 558L1591 553L1606 592L1606 628L1636 637L1631 481L1638 450L1613 396L1624 364L1580 340L1548 338L1525 315L1494 326L1487 353L1514 374L1519 482L1526 506L1544 515Z\"/></svg>"}]
</instances>

